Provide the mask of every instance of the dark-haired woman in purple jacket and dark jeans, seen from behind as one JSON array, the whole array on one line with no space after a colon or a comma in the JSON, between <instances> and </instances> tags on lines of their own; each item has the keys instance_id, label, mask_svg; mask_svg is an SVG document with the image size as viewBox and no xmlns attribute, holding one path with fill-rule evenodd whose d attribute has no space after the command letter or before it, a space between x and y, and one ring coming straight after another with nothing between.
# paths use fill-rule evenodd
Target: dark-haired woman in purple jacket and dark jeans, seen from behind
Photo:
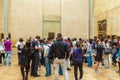
<instances>
[{"instance_id":1,"label":"dark-haired woman in purple jacket and dark jeans, seen from behind","mask_svg":"<svg viewBox=\"0 0 120 80\"><path fill-rule=\"evenodd\" d=\"M83 77L83 54L84 54L84 50L82 49L82 42L76 42L76 48L73 50L75 80L78 80L78 76L77 76L78 68L80 71L79 80L82 80Z\"/></svg>"}]
</instances>

